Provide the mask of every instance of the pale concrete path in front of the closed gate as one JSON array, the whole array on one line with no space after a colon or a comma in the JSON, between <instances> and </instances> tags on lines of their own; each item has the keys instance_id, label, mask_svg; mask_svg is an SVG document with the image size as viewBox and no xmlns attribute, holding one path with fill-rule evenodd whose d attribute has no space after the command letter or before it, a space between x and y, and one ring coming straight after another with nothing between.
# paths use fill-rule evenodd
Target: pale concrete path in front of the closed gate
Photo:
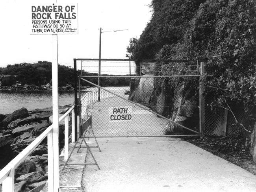
<instances>
[{"instance_id":1,"label":"pale concrete path in front of the closed gate","mask_svg":"<svg viewBox=\"0 0 256 192\"><path fill-rule=\"evenodd\" d=\"M93 144L93 139L89 142ZM255 192L256 176L179 138L98 138L85 192ZM90 155L87 162L92 162Z\"/></svg>"}]
</instances>

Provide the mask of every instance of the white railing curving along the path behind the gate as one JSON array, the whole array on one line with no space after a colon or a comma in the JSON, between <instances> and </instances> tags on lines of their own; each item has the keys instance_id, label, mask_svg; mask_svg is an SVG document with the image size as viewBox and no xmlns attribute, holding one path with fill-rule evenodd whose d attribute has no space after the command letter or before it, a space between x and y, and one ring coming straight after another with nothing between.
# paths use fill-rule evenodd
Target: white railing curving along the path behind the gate
<instances>
[{"instance_id":1,"label":"white railing curving along the path behind the gate","mask_svg":"<svg viewBox=\"0 0 256 192\"><path fill-rule=\"evenodd\" d=\"M110 90L111 92L115 94L124 94L124 90ZM111 94L110 92L106 90L100 91L100 98L110 98L110 97L116 97L115 95ZM82 114L85 115L85 112L87 110L87 107L90 103L95 102L98 100L98 91L91 91L87 92L82 98L81 98L81 104L82 104ZM83 118L83 116L82 116Z\"/></svg>"}]
</instances>

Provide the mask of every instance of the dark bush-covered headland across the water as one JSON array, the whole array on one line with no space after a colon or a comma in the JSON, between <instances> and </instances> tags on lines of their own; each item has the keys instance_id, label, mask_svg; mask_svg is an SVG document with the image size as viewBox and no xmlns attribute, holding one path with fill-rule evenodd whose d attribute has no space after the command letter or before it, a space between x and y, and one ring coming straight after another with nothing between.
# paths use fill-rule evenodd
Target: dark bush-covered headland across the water
<instances>
[{"instance_id":1,"label":"dark bush-covered headland across the water","mask_svg":"<svg viewBox=\"0 0 256 192\"><path fill-rule=\"evenodd\" d=\"M59 86L74 85L74 68L65 65L59 65ZM78 70L78 75L81 70ZM93 76L96 73L82 72L82 75ZM0 76L4 76L2 86L11 86L19 81L22 85L45 85L50 83L52 79L52 63L48 61L38 61L37 63L20 63L15 65L7 65L7 67L0 68ZM108 76L108 75L106 75ZM87 80L98 83L98 78L86 78ZM81 81L83 86L91 86L88 83ZM101 81L103 87L107 86L128 86L128 78L104 78Z\"/></svg>"}]
</instances>

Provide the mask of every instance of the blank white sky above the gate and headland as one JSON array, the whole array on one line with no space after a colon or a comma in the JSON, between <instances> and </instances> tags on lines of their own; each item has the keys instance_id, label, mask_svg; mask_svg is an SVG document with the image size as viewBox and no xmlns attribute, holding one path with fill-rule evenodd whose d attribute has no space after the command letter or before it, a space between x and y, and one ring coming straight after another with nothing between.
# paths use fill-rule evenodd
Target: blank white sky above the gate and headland
<instances>
[{"instance_id":1,"label":"blank white sky above the gate and headland","mask_svg":"<svg viewBox=\"0 0 256 192\"><path fill-rule=\"evenodd\" d=\"M55 0L6 0L0 6L0 67L15 63L52 61L52 35L30 35L31 6ZM78 34L58 35L58 63L73 66L73 58L125 59L126 46L139 37L149 22L151 0L58 0L78 3Z\"/></svg>"}]
</instances>

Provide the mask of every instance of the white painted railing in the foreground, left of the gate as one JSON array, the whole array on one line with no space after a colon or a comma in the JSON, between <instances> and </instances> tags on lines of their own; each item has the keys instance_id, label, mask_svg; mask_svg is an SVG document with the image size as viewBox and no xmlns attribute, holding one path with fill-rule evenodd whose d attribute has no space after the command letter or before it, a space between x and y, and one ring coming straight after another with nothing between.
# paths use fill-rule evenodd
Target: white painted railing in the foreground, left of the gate
<instances>
[{"instance_id":1,"label":"white painted railing in the foreground, left of the gate","mask_svg":"<svg viewBox=\"0 0 256 192\"><path fill-rule=\"evenodd\" d=\"M69 114L72 113L72 141L74 140L74 106L72 106L69 111L63 114L59 118L59 122L65 118L65 146L64 146L64 159L68 157L68 144L69 144ZM3 192L14 192L14 176L15 168L32 153L32 151L42 142L42 140L47 136L47 146L48 146L48 181L53 180L53 137L52 137L53 127L49 126L41 135L39 135L30 145L28 145L24 150L22 150L19 155L17 155L13 160L11 160L1 171L0 171L0 183L2 183ZM52 181L51 181L52 182ZM52 191L50 188L49 192ZM57 192L57 191L56 191Z\"/></svg>"}]
</instances>

